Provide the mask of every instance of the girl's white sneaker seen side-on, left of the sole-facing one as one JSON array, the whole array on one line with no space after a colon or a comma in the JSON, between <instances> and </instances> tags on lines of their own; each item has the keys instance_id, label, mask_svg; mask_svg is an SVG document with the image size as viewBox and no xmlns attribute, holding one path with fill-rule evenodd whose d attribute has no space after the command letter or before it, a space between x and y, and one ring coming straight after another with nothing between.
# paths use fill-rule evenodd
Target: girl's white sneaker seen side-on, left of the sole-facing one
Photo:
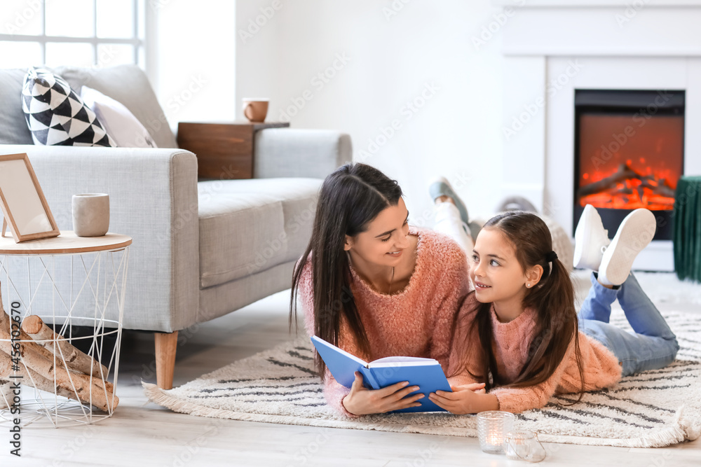
<instances>
[{"instance_id":1,"label":"girl's white sneaker seen side-on, left of the sole-facing one","mask_svg":"<svg viewBox=\"0 0 701 467\"><path fill-rule=\"evenodd\" d=\"M610 243L597 209L587 204L574 232L574 267L598 271Z\"/></svg>"}]
</instances>

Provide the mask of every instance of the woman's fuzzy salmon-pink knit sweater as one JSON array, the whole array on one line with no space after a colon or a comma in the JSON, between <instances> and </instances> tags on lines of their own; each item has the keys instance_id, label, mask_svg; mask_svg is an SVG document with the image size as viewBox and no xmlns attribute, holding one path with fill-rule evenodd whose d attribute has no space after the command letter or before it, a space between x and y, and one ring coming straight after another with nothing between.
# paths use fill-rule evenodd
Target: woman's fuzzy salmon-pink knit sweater
<instances>
[{"instance_id":1,"label":"woman's fuzzy salmon-pink knit sweater","mask_svg":"<svg viewBox=\"0 0 701 467\"><path fill-rule=\"evenodd\" d=\"M409 284L400 293L374 291L351 267L351 290L370 343L370 354L362 355L341 315L339 347L365 361L386 356L435 358L447 370L454 319L469 291L465 253L449 237L411 227L418 236L416 267ZM311 260L307 260L299 284L305 326L314 334ZM341 386L331 373L325 376L326 400L338 412L353 417L343 407L350 389Z\"/></svg>"}]
</instances>

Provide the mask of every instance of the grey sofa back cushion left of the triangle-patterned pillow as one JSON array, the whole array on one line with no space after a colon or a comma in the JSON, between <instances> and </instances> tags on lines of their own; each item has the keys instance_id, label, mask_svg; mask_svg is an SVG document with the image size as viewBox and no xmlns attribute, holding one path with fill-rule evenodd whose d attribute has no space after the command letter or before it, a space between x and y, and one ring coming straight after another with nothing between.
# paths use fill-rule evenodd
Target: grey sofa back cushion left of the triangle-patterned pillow
<instances>
[{"instance_id":1,"label":"grey sofa back cushion left of the triangle-patterned pillow","mask_svg":"<svg viewBox=\"0 0 701 467\"><path fill-rule=\"evenodd\" d=\"M0 144L34 144L22 112L27 69L0 69Z\"/></svg>"}]
</instances>

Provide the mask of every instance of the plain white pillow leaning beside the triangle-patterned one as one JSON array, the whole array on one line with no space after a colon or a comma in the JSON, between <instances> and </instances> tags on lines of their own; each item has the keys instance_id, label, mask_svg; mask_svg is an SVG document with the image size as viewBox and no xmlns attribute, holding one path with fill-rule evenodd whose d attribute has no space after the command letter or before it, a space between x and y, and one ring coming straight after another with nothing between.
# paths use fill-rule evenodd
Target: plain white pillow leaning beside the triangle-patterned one
<instances>
[{"instance_id":1,"label":"plain white pillow leaning beside the triangle-patterned one","mask_svg":"<svg viewBox=\"0 0 701 467\"><path fill-rule=\"evenodd\" d=\"M81 98L104 126L107 134L122 148L156 148L149 130L121 102L83 86Z\"/></svg>"}]
</instances>

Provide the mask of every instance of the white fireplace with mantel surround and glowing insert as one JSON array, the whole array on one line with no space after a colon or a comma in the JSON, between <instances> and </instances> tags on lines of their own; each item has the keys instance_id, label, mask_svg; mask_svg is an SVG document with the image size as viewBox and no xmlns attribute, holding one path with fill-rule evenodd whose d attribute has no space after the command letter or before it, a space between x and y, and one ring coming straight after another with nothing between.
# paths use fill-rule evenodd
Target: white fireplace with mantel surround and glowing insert
<instances>
[{"instance_id":1,"label":"white fireplace with mantel surround and glowing insert","mask_svg":"<svg viewBox=\"0 0 701 467\"><path fill-rule=\"evenodd\" d=\"M626 171L621 175L624 185L630 179L629 186L615 185L614 188L623 188L626 192L620 193L620 201L631 202L632 197L636 197L635 200L650 205L654 198L657 205L653 204L652 210L662 217L658 230L660 235L664 233L662 230L668 233L671 223L665 221L663 215L669 211L658 208L669 206L669 196L664 193L665 187L676 186L673 172L676 170L681 174L679 165L683 162L683 174L701 174L701 132L695 130L701 127L701 34L698 27L701 0L648 1L644 8L634 8L632 13L627 8L630 2L624 0L494 0L492 3L503 6L504 12L510 12L507 8L513 9L513 14L510 13L508 22L499 32L503 55L503 127L512 129L515 121L524 124L515 135L503 132L502 195L526 197L539 211L573 235L583 209L580 200L575 202L580 186L591 184L592 177L603 176L603 179L615 174L621 164L624 164L622 170L626 171L627 164L636 174L628 177ZM627 16L629 13L634 18ZM621 18L624 19L619 21ZM582 102L586 92L580 90L597 90L605 95L605 99L601 99L604 102L586 102L586 99ZM633 126L629 133L634 131L634 136L625 135L627 124L619 122L618 130L609 128L603 137L599 137L599 141L603 141L595 146L591 144L593 149L590 151L600 149L602 144L605 147L610 145L615 141L614 134L622 139L622 133L630 141L617 151L611 151L610 158L604 152L598 167L583 170L580 161L575 160L574 153L581 153L581 143L579 140L575 142L575 137L580 132L580 123L586 125L590 121L576 116L579 109L575 111L575 98L578 104L583 104L581 116L589 115L592 117L589 120L596 121L597 112L601 116L613 111L614 93L608 90L634 90L616 91L619 94L617 100L632 99L635 92L639 92L636 90L651 90L648 95L653 99L648 112L651 118L639 116L645 118L646 124L637 127L641 120L632 121L632 116L640 109L647 109L650 103L620 103L623 109L618 109L618 116L631 120ZM667 100L664 90L684 92L674 92L677 97ZM655 97L664 105L655 104ZM684 130L681 129L682 121ZM674 151L681 155L683 150L680 156L683 160L674 162L676 169L671 160L665 160L663 170L668 170L669 174L660 174L650 163L650 158L653 157L654 161L657 155L659 141L651 140L648 131L665 123L676 126L674 131L680 139L683 138L683 144L676 140L678 149ZM642 144L643 150L651 154L627 152L638 145L637 141L643 140L646 141ZM673 152L669 143L662 144L670 148L669 153ZM617 149L615 144L613 149ZM614 159L615 152L622 160ZM640 162L641 158L645 162ZM608 172L592 174L592 169ZM589 179L580 179L585 173ZM644 179L645 176L655 176L656 179ZM665 179L661 188L659 179ZM579 183L577 188L576 183ZM655 183L658 184L656 193ZM589 189L594 190L593 187ZM603 195L604 204L611 202L615 193L608 193L608 199ZM628 195L628 199L623 200L623 195ZM620 214L625 215L626 211ZM615 231L614 224L606 220L611 233ZM637 256L633 269L673 271L672 240L653 240Z\"/></svg>"}]
</instances>

